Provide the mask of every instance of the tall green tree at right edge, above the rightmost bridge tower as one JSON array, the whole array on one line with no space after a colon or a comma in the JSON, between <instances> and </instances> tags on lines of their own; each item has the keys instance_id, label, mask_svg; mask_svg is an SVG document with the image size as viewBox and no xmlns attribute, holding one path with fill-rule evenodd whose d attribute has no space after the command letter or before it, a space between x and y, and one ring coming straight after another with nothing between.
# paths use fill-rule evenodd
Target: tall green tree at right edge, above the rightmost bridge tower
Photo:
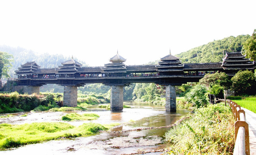
<instances>
[{"instance_id":1,"label":"tall green tree at right edge, above the rightmost bridge tower","mask_svg":"<svg viewBox=\"0 0 256 155\"><path fill-rule=\"evenodd\" d=\"M252 36L244 42L243 48L248 58L256 60L256 29Z\"/></svg>"}]
</instances>

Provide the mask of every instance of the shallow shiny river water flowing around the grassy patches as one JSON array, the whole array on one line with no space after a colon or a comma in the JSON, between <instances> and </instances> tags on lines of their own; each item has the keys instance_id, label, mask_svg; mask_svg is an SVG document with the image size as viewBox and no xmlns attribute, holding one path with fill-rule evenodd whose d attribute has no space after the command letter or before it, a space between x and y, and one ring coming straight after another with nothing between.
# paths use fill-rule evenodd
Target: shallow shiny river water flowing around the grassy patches
<instances>
[{"instance_id":1,"label":"shallow shiny river water flowing around the grassy patches","mask_svg":"<svg viewBox=\"0 0 256 155\"><path fill-rule=\"evenodd\" d=\"M122 112L97 111L100 115L94 121L69 122L79 126L83 123L95 122L100 124L120 123L113 131L140 129L144 127L162 127L174 124L188 110L177 110L175 113L166 113L165 108L150 104L138 104L125 102L131 108ZM89 109L95 110L95 106ZM92 112L78 112L92 113ZM66 112L27 112L28 116L20 117L23 113L13 114L14 117L0 118L1 123L24 124L42 121L60 121ZM136 130L124 133L98 133L72 139L52 140L49 142L31 144L15 149L0 151L1 155L121 155L141 151L153 151L167 147L164 141L164 133L170 128ZM144 155L159 155L161 152L147 153Z\"/></svg>"}]
</instances>

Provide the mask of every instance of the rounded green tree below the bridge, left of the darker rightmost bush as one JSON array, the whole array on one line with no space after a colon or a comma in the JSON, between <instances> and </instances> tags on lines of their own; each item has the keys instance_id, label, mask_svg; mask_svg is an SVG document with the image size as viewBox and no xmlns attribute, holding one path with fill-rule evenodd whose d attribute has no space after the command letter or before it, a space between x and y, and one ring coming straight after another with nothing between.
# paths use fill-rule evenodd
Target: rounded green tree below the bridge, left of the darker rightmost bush
<instances>
[{"instance_id":1,"label":"rounded green tree below the bridge, left of the darker rightmost bush","mask_svg":"<svg viewBox=\"0 0 256 155\"><path fill-rule=\"evenodd\" d=\"M203 78L199 80L200 84L205 84L207 87L212 87L214 85L222 86L224 90L228 90L232 82L228 75L224 72L216 72L214 74L206 74ZM215 94L216 95L216 94Z\"/></svg>"}]
</instances>

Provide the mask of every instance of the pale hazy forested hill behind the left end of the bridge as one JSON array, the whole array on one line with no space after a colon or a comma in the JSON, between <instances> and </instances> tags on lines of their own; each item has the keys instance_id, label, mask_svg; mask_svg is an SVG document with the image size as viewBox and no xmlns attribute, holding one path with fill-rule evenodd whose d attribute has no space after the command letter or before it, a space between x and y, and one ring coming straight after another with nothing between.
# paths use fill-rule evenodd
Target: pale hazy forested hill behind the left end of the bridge
<instances>
[{"instance_id":1,"label":"pale hazy forested hill behind the left end of the bridge","mask_svg":"<svg viewBox=\"0 0 256 155\"><path fill-rule=\"evenodd\" d=\"M63 56L62 54L47 54L47 53L35 53L32 50L27 50L22 47L10 47L10 46L0 46L1 52L6 52L11 54L14 57L14 62L12 62L12 68L9 71L9 75L14 77L14 71L18 69L18 67L26 62L35 61L41 68L55 68L58 65L61 65L61 62L65 62L71 58ZM78 60L78 62L82 63L83 66L87 66L85 62Z\"/></svg>"}]
</instances>

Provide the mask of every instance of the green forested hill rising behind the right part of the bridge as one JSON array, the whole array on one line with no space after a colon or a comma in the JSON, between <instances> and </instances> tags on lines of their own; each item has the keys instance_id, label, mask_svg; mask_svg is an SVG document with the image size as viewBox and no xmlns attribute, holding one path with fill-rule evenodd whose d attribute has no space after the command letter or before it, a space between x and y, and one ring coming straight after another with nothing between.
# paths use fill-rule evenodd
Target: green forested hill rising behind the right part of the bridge
<instances>
[{"instance_id":1,"label":"green forested hill rising behind the right part of the bridge","mask_svg":"<svg viewBox=\"0 0 256 155\"><path fill-rule=\"evenodd\" d=\"M222 40L214 40L206 45L195 47L187 52L177 54L183 63L221 62L223 51L240 52L243 43L250 35L239 35L237 37L226 37Z\"/></svg>"}]
</instances>

